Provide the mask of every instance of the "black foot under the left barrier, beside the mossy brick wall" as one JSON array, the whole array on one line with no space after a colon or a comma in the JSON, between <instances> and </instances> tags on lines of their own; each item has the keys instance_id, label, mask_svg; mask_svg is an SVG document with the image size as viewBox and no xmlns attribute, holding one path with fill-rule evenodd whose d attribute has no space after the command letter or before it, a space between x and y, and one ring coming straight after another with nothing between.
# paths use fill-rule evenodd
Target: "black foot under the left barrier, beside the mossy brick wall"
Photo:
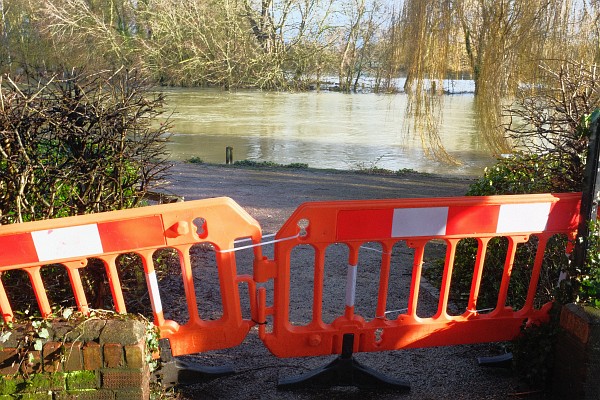
<instances>
[{"instance_id":1,"label":"black foot under the left barrier, beside the mossy brick wall","mask_svg":"<svg viewBox=\"0 0 600 400\"><path fill-rule=\"evenodd\" d=\"M156 378L164 387L193 385L235 373L229 366L209 367L173 357L168 339L160 340L160 358L162 365Z\"/></svg>"}]
</instances>

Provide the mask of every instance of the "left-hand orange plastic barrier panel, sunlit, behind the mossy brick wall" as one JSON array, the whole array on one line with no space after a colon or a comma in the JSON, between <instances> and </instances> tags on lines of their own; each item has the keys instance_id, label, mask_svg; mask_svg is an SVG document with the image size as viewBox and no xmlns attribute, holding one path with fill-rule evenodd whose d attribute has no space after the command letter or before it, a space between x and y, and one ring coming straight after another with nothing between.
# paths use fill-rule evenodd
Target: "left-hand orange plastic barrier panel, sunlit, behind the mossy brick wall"
<instances>
[{"instance_id":1,"label":"left-hand orange plastic barrier panel, sunlit, behind the mossy brick wall","mask_svg":"<svg viewBox=\"0 0 600 400\"><path fill-rule=\"evenodd\" d=\"M86 267L88 258L99 258L106 267L115 309L125 313L115 262L120 254L137 253L142 259L155 324L161 335L170 339L173 355L191 354L236 346L253 325L242 318L238 284L248 283L254 304L254 282L250 276L237 275L233 253L220 251L232 249L238 238L260 241L261 230L253 218L228 198L5 225L0 226L0 273L26 271L40 312L47 317L52 309L40 270L47 265L62 264L79 310L87 313L89 305L79 270ZM198 243L210 243L216 250L223 306L223 315L218 320L202 320L198 315L189 251ZM152 257L161 248L174 248L179 253L189 313L189 320L183 325L163 316ZM254 249L254 255L262 259L260 248ZM1 281L0 310L5 321L12 320L13 311Z\"/></svg>"}]
</instances>

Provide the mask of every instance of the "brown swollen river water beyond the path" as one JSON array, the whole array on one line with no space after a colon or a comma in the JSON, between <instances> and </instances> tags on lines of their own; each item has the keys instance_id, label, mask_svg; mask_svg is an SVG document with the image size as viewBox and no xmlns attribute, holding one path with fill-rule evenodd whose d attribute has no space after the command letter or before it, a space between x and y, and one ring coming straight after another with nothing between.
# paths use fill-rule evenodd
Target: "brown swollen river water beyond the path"
<instances>
[{"instance_id":1,"label":"brown swollen river water beyond the path","mask_svg":"<svg viewBox=\"0 0 600 400\"><path fill-rule=\"evenodd\" d=\"M473 95L445 96L441 140L460 165L425 155L421 140L405 129L406 95L330 91L273 93L218 89L165 89L175 160L199 157L305 163L313 168L412 169L480 175L493 164L475 129Z\"/></svg>"}]
</instances>

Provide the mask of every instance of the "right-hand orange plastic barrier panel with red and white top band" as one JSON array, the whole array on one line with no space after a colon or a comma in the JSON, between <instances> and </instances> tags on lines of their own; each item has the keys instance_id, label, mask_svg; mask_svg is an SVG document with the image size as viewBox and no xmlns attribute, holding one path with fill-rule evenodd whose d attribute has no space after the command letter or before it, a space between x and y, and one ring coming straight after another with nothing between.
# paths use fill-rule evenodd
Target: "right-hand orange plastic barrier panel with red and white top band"
<instances>
[{"instance_id":1,"label":"right-hand orange plastic barrier panel with red and white top band","mask_svg":"<svg viewBox=\"0 0 600 400\"><path fill-rule=\"evenodd\" d=\"M438 199L342 201L301 205L277 234L296 237L275 245L275 265L257 265L255 279L274 279L274 299L266 304L266 291L259 289L259 320L271 316L272 331L259 327L260 337L278 357L339 354L344 335L354 336L354 352L373 352L411 347L468 344L510 340L524 321L543 320L550 304L534 307L544 250L555 234L574 238L579 218L580 194L515 195ZM308 225L302 228L302 225ZM299 235L299 236L298 236ZM507 291L517 244L538 237L532 277L525 306L513 310L506 305ZM483 274L486 245L494 237L508 238L508 253L495 309L487 314L476 310ZM451 276L457 243L476 238L479 250L467 310L452 316L447 312ZM446 259L438 310L432 317L417 314L425 245L434 239L446 243ZM394 244L405 241L414 249L408 309L388 319L390 255ZM359 249L366 242L382 246L376 317L355 312L357 269L361 268ZM333 244L348 247L345 310L331 323L323 321L325 252ZM299 245L315 252L313 296L304 307L312 310L312 320L298 326L290 319L291 255ZM303 266L304 267L304 266ZM343 277L338 279L344 279ZM296 304L295 307L298 307Z\"/></svg>"}]
</instances>

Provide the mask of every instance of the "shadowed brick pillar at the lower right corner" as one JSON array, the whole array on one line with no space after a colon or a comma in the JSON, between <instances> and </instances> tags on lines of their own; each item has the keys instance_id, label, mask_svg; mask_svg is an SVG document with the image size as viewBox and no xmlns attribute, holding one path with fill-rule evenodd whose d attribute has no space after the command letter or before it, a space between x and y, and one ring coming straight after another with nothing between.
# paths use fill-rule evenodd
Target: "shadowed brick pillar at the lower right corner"
<instances>
[{"instance_id":1,"label":"shadowed brick pillar at the lower right corner","mask_svg":"<svg viewBox=\"0 0 600 400\"><path fill-rule=\"evenodd\" d=\"M600 310L568 304L560 315L552 389L557 399L600 399Z\"/></svg>"}]
</instances>

